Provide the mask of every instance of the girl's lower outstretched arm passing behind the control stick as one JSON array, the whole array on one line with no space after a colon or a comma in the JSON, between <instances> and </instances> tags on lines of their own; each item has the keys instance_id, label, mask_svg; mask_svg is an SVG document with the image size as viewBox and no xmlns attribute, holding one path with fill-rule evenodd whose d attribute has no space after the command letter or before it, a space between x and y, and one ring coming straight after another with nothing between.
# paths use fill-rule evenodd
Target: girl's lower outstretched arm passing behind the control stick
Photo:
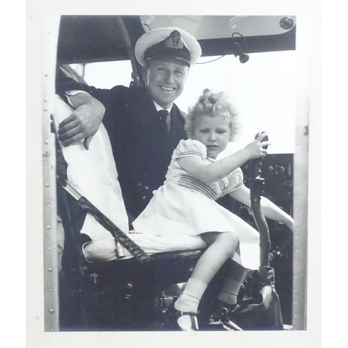
<instances>
[{"instance_id":1,"label":"girl's lower outstretched arm passing behind the control stick","mask_svg":"<svg viewBox=\"0 0 348 348\"><path fill-rule=\"evenodd\" d=\"M229 193L232 198L239 200L239 202L251 207L250 189L245 186ZM261 211L268 219L284 223L290 230L294 230L294 219L282 209L277 207L269 199L261 197Z\"/></svg>"}]
</instances>

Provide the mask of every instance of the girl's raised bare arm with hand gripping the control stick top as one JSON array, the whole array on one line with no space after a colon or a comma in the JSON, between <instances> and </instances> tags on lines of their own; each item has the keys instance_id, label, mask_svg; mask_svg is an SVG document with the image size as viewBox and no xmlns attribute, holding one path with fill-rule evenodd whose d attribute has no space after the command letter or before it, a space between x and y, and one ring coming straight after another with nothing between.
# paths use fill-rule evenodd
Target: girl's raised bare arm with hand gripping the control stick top
<instances>
[{"instance_id":1,"label":"girl's raised bare arm with hand gripping the control stick top","mask_svg":"<svg viewBox=\"0 0 348 348\"><path fill-rule=\"evenodd\" d=\"M187 173L197 177L199 180L216 182L242 166L248 159L266 156L267 150L264 149L264 146L269 145L269 142L264 141L261 143L263 138L264 135L261 135L244 149L209 164L198 157L181 157L177 159L177 163L184 171L187 171Z\"/></svg>"}]
</instances>

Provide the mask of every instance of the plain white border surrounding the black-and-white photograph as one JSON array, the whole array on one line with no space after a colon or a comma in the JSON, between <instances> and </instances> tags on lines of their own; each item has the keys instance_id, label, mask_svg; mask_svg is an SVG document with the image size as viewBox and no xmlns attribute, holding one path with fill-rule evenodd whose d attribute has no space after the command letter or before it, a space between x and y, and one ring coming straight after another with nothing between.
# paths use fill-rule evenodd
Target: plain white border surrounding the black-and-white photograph
<instances>
[{"instance_id":1,"label":"plain white border surrounding the black-and-white photograph","mask_svg":"<svg viewBox=\"0 0 348 348\"><path fill-rule=\"evenodd\" d=\"M130 4L130 7L125 10L125 13L132 14L132 8L134 9L134 1ZM191 1L190 3L193 3ZM321 201L323 196L323 216L319 209L314 212L317 213L315 219L319 220L319 225L322 225L323 235L322 244L325 246L323 255L322 271L325 275L324 282L321 285L320 280L320 268L314 267L311 271L314 273L315 279L319 278L316 282L318 285L318 291L321 288L324 292L324 301L321 303L321 299L317 301L317 305L323 306L322 318L317 310L317 317L314 322L310 324L310 330L307 334L299 335L298 333L288 333L287 342L282 347L320 347L320 336L323 335L323 347L340 347L344 345L346 341L345 331L347 320L345 318L346 304L345 302L345 280L346 269L345 259L343 258L347 251L347 222L345 216L347 215L347 183L345 182L345 139L347 138L347 63L345 57L347 57L347 38L342 33L347 33L347 13L345 11L345 3L338 0L322 1L324 3L323 9L320 6L319 1L310 0L292 0L292 1L229 1L228 9L226 9L226 1L214 1L207 3L206 6L202 6L204 1L199 1L196 6L192 7L196 13L209 14L221 12L227 10L230 13L239 14L254 14L254 15L270 15L284 13L293 13L296 15L304 15L310 21L311 28L311 40L308 40L308 45L311 46L313 51L311 58L313 59L314 79L312 83L313 100L311 103L315 104L317 108L322 110L323 125L321 125L320 115L317 115L317 126L315 127L315 134L311 136L311 139L317 139L317 142L322 143L323 148L322 155L324 157L324 166L321 166L321 155L315 156L315 159L310 161L310 171L316 173L322 173L322 181L325 185L322 186L320 177L317 180L317 189L312 192L314 198ZM69 5L68 5L69 3ZM26 122L31 122L32 118L40 118L40 88L38 91L37 85L40 85L40 16L42 14L94 14L103 13L110 14L108 6L111 1L95 1L95 6L92 6L91 1L42 1L30 0L27 1L27 12L25 14L25 2L15 1L13 3L6 3L6 12L1 21L1 33L3 33L3 47L4 52L1 56L2 59L2 74L3 85L6 89L3 92L3 127L1 133L1 149L2 149L2 162L3 171L1 171L1 182L3 184L3 202L6 205L6 214L2 215L2 232L3 238L1 243L1 264L3 265L2 282L1 282L1 299L2 310L1 316L2 322L2 342L10 347L24 347L25 337L24 330L26 324L26 318L24 315L26 308L25 301L25 277L26 272L24 264L25 258L25 230L24 215L26 206L35 205L35 201L41 199L41 197L35 196L35 191L31 189L33 187L31 182L25 184L26 176L25 171L32 173L33 171L38 174L38 180L40 182L41 166L33 168L33 161L31 158L38 150L33 147L33 139L35 136L40 138L40 129L38 133L27 133L24 122L24 115L26 114L25 97L28 97L26 103L30 100L36 100L38 109L29 109ZM188 6L184 6L187 1L177 1L177 4L173 8L180 14L189 11ZM88 4L88 6L87 6ZM168 4L164 3L165 6ZM139 13L165 13L164 8L155 7L155 10L149 10L148 3L141 1L136 4L139 8ZM118 10L120 10L118 6ZM233 12L232 12L233 10ZM322 30L322 17L321 12L324 13L323 30ZM14 14L11 15L11 14ZM111 13L117 13L116 8L111 10ZM24 19L25 18L25 19ZM33 18L33 19L30 19ZM24 20L28 21L25 24ZM33 21L33 22L31 22ZM26 41L25 35L28 34ZM321 42L322 40L322 42ZM28 47L26 47L26 43ZM321 52L321 45L324 47ZM36 52L36 54L35 54ZM27 60L25 55L28 55ZM323 58L323 65L321 60ZM9 64L15 68L8 68ZM25 71L25 64L27 64L27 72ZM321 68L324 68L322 73ZM35 83L35 79L29 79L26 87L22 84L24 76L29 76L29 71L34 70L38 81ZM323 82L322 82L323 81ZM33 90L33 85L36 87ZM26 91L25 91L26 89ZM323 101L322 101L323 100ZM313 118L312 118L313 120ZM321 134L323 129L323 135ZM25 159L24 148L27 149L28 157ZM314 149L315 151L315 149ZM318 151L321 151L319 148ZM321 153L321 152L320 152ZM28 165L24 166L24 161L27 161ZM342 169L343 168L343 169ZM34 185L35 186L35 185ZM24 203L24 192L27 187L26 205ZM323 194L321 194L321 192ZM38 208L40 209L40 207ZM5 215L5 216L4 216ZM33 230L38 227L38 232L41 231L41 222L32 221L32 216L26 216L27 227L29 230ZM318 238L321 238L318 232ZM340 243L337 241L340 240ZM336 241L336 242L335 242ZM320 263L321 253L316 252L317 260L315 262ZM31 271L28 271L28 275ZM40 287L40 284L39 284ZM38 289L40 292L40 289ZM53 347L50 340L47 341L47 335L45 340L42 338L42 331L32 331L30 329L30 323L33 320L31 317L32 306L37 306L37 301L32 300L31 294L28 294L28 325L31 333L30 341L28 341L28 347ZM310 296L317 297L315 292L311 292ZM39 303L40 305L40 303ZM313 310L310 310L313 313ZM313 319L313 317L312 317ZM323 321L322 330L320 329L321 319ZM106 338L107 336L107 338ZM103 340L97 340L97 345L103 345L104 347L115 347L118 344L132 347L127 342L120 342L120 338L117 340L113 338L110 340L109 335L104 336ZM134 335L137 337L136 335ZM267 341L264 335L252 335L255 340L253 344L251 340L243 339L242 335L233 335L229 339L230 345L235 347L260 347L260 343L264 342L264 347L271 345L277 345L277 341L273 338ZM294 344L294 336L297 338L296 344ZM36 338L33 340L33 337ZM303 340L303 337L306 339ZM79 333L70 335L70 340L64 340L60 335L52 335L52 340L56 340L61 343L61 347L91 347L86 340L81 341L81 335ZM73 342L71 338L76 338L77 342ZM90 338L90 335L88 335ZM262 340L264 338L264 340ZM242 339L242 340L241 340ZM52 342L52 341L51 341ZM63 344L62 344L63 342ZM83 343L82 343L83 342ZM145 342L149 342L148 340ZM177 341L169 342L168 347L177 347L175 345ZM185 342L188 342L187 340ZM338 342L338 343L337 343ZM343 342L343 343L342 343ZM108 344L109 343L109 344ZM174 345L172 344L174 343ZM210 342L207 342L207 344ZM219 344L219 340L215 340L212 344L216 347L225 347L225 345ZM163 345L163 343L162 343ZM181 346L185 345L181 342ZM187 346L187 345L186 345ZM200 345L204 347L205 345ZM56 346L55 346L56 347ZM96 346L95 346L96 347ZM193 345L191 345L193 347Z\"/></svg>"}]
</instances>

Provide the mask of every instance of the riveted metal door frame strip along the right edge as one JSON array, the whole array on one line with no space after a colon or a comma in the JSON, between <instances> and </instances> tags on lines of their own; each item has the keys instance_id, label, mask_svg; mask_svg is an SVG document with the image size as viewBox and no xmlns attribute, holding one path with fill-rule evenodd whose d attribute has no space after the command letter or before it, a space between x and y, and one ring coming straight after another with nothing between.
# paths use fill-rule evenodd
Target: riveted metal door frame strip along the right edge
<instances>
[{"instance_id":1,"label":"riveted metal door frame strip along the right edge","mask_svg":"<svg viewBox=\"0 0 348 348\"><path fill-rule=\"evenodd\" d=\"M299 22L299 21L297 21ZM304 25L304 22L302 24ZM301 23L301 22L300 22ZM308 277L308 147L309 147L309 71L308 38L300 26L296 38L297 95L296 144L294 152L294 239L292 326L294 330L307 329Z\"/></svg>"}]
</instances>

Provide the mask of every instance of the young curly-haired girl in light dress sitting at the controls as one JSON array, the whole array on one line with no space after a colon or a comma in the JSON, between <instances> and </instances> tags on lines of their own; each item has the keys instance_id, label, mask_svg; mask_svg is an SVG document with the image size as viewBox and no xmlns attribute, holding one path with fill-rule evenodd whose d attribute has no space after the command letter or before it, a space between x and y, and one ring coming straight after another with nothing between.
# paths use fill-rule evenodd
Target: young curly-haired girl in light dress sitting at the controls
<instances>
[{"instance_id":1,"label":"young curly-haired girl in light dress sitting at the controls","mask_svg":"<svg viewBox=\"0 0 348 348\"><path fill-rule=\"evenodd\" d=\"M198 330L197 309L210 280L232 258L233 269L223 283L215 303L232 310L249 269L260 262L259 233L245 221L215 202L229 194L250 207L250 191L244 187L242 166L248 159L267 155L263 136L224 159L216 157L237 132L237 115L223 93L204 90L187 116L189 139L173 152L164 185L155 191L148 207L134 221L136 232L164 235L200 235L207 250L198 260L181 296L174 303L177 324L184 331ZM262 212L292 229L293 220L266 198ZM214 317L214 313L213 313ZM217 319L217 318L216 318Z\"/></svg>"}]
</instances>

